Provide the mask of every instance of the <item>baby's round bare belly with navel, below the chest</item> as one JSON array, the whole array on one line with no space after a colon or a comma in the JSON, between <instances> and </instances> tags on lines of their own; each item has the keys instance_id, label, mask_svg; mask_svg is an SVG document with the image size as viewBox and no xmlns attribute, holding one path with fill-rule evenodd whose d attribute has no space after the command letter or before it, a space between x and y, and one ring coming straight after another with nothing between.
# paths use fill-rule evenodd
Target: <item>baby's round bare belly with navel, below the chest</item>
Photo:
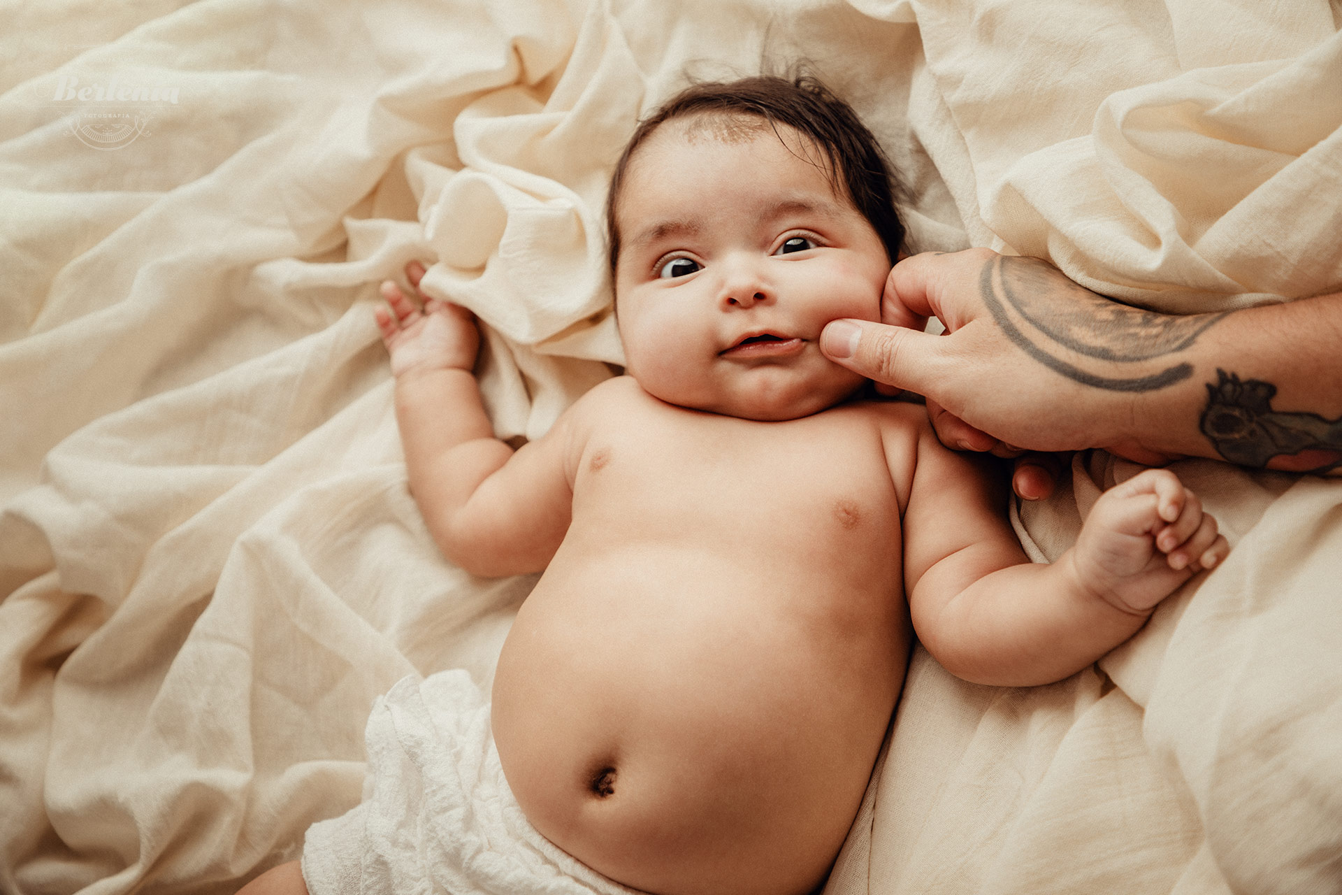
<instances>
[{"instance_id":1,"label":"baby's round bare belly with navel, below the chest","mask_svg":"<svg viewBox=\"0 0 1342 895\"><path fill-rule=\"evenodd\" d=\"M527 819L659 895L809 891L858 812L909 647L898 585L849 584L702 550L557 557L494 683Z\"/></svg>"}]
</instances>

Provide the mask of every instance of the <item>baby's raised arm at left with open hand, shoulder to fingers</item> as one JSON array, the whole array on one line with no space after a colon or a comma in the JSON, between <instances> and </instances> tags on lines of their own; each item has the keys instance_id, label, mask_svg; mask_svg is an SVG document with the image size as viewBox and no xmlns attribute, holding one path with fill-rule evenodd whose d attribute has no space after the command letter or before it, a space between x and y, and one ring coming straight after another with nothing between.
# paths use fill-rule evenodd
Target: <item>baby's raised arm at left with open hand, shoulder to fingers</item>
<instances>
[{"instance_id":1,"label":"baby's raised arm at left with open hand, shoulder to fingers","mask_svg":"<svg viewBox=\"0 0 1342 895\"><path fill-rule=\"evenodd\" d=\"M405 267L419 287L424 268ZM411 494L447 558L482 576L542 570L568 530L569 416L513 451L494 437L471 369L479 330L470 311L425 299L423 310L391 280L376 310L396 376L396 420Z\"/></svg>"}]
</instances>

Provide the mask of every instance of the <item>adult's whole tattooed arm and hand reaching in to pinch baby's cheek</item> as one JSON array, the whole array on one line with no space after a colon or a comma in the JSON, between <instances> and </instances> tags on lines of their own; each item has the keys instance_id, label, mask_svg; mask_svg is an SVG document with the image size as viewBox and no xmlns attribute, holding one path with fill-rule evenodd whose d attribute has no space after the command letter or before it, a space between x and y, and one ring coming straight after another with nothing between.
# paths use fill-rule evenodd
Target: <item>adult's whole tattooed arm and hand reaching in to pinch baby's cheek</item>
<instances>
[{"instance_id":1,"label":"adult's whole tattooed arm and hand reaching in to pinch baby's cheek","mask_svg":"<svg viewBox=\"0 0 1342 895\"><path fill-rule=\"evenodd\" d=\"M915 331L929 315L946 338ZM883 317L895 326L836 321L821 348L925 394L950 447L1103 447L1142 463L1206 456L1342 475L1342 293L1157 314L1044 262L970 250L895 266Z\"/></svg>"}]
</instances>

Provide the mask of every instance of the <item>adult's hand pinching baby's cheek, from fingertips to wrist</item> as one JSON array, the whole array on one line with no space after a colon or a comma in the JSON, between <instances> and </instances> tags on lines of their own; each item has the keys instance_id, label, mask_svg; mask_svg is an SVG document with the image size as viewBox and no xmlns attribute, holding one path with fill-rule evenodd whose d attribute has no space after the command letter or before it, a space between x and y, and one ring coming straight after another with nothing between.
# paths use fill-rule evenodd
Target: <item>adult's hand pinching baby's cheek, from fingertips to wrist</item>
<instances>
[{"instance_id":1,"label":"adult's hand pinching baby's cheek, from fingertips to wrist","mask_svg":"<svg viewBox=\"0 0 1342 895\"><path fill-rule=\"evenodd\" d=\"M933 315L943 337L922 331ZM1134 396L1186 378L1170 356L1219 317L1129 307L1044 262L978 248L899 262L883 323L835 321L820 345L837 364L925 396L947 447L1000 456L1103 447L1159 464L1176 455L1131 429ZM1023 460L1013 484L1043 496L1049 462Z\"/></svg>"}]
</instances>

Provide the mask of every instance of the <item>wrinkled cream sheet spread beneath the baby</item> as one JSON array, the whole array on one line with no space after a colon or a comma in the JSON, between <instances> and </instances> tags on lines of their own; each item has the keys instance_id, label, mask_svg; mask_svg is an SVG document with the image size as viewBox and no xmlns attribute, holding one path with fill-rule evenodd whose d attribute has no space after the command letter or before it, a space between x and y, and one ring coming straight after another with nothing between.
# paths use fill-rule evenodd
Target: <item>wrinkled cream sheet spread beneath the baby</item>
<instances>
[{"instance_id":1,"label":"wrinkled cream sheet spread beneath the baby","mask_svg":"<svg viewBox=\"0 0 1342 895\"><path fill-rule=\"evenodd\" d=\"M915 250L1039 255L1169 311L1342 283L1323 0L5 15L3 892L232 891L358 801L378 694L487 687L531 580L429 542L376 283L436 259L427 288L488 323L499 433L544 432L620 361L605 178L686 71L809 58L899 168ZM917 652L832 892L1342 888L1342 486L1181 470L1231 560L1052 687ZM1027 546L1056 556L1129 474L1079 459Z\"/></svg>"}]
</instances>

